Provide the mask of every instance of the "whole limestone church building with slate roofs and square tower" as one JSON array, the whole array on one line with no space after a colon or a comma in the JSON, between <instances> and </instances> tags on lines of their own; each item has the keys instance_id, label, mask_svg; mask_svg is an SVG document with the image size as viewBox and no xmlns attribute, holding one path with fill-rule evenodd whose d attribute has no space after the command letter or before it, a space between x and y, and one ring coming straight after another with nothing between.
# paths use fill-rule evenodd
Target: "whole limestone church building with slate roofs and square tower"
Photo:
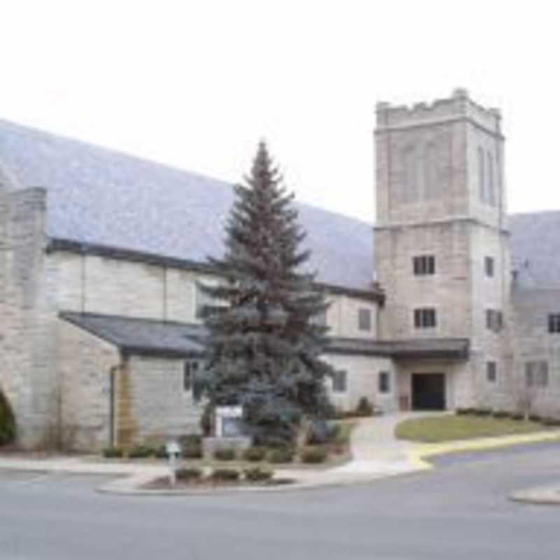
<instances>
[{"instance_id":1,"label":"whole limestone church building with slate roofs and square tower","mask_svg":"<svg viewBox=\"0 0 560 560\"><path fill-rule=\"evenodd\" d=\"M374 227L297 204L332 401L560 417L560 211L508 215L500 111L377 104ZM289 186L288 186L289 188ZM232 186L0 120L0 391L23 447L199 429Z\"/></svg>"}]
</instances>

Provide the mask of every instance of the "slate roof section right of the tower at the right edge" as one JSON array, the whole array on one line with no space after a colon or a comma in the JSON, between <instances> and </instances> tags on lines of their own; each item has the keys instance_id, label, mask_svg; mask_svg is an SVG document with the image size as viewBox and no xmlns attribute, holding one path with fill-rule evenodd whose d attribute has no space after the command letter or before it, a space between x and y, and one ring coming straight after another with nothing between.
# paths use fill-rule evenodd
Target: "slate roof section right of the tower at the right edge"
<instances>
[{"instance_id":1,"label":"slate roof section right of the tower at the right edge","mask_svg":"<svg viewBox=\"0 0 560 560\"><path fill-rule=\"evenodd\" d=\"M560 288L560 211L510 216L512 266L520 288Z\"/></svg>"}]
</instances>

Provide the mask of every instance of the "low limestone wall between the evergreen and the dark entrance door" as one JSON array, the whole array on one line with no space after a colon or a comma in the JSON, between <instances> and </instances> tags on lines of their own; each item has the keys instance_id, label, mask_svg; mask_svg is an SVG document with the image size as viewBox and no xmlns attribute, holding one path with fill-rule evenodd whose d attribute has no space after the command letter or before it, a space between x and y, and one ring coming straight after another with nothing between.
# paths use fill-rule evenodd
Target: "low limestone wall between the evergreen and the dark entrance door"
<instances>
[{"instance_id":1,"label":"low limestone wall between the evergreen and the dark entrance door","mask_svg":"<svg viewBox=\"0 0 560 560\"><path fill-rule=\"evenodd\" d=\"M356 408L360 397L367 397L370 402L391 411L397 407L397 379L393 364L389 358L375 356L342 356L325 354L325 360L335 370L346 371L347 390L344 393L332 391L332 382L327 381L332 404L342 410ZM391 391L379 393L379 372L389 372Z\"/></svg>"}]
</instances>

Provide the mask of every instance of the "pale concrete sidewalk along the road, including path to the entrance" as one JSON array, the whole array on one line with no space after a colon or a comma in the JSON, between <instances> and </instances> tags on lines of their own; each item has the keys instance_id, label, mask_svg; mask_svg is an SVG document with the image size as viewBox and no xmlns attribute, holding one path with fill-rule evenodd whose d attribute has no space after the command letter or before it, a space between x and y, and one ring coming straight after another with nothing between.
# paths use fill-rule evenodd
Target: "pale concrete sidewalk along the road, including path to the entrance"
<instances>
[{"instance_id":1,"label":"pale concrete sidewalk along the road, including path to the entrance","mask_svg":"<svg viewBox=\"0 0 560 560\"><path fill-rule=\"evenodd\" d=\"M444 413L440 413L444 414ZM426 413L398 413L386 416L360 419L351 435L352 460L345 465L325 469L288 468L279 470L283 478L290 478L294 484L251 488L253 491L279 491L314 488L318 486L340 486L360 482L369 482L383 477L419 472L433 468L426 458L437 454L457 451L477 451L493 449L513 444L558 440L560 430L513 435L507 437L489 437L479 440L463 440L442 444L416 444L396 440L395 426L409 418L426 416ZM433 415L433 414L430 414ZM0 468L11 470L40 470L44 472L68 472L97 475L114 475L116 479L104 484L101 491L114 493L177 493L176 491L141 490L147 482L169 475L167 465L151 465L135 462L100 461L95 457L67 457L33 459L17 456L1 456ZM230 491L248 490L241 488ZM215 493L216 491L211 490ZM183 493L201 493L184 491Z\"/></svg>"}]
</instances>

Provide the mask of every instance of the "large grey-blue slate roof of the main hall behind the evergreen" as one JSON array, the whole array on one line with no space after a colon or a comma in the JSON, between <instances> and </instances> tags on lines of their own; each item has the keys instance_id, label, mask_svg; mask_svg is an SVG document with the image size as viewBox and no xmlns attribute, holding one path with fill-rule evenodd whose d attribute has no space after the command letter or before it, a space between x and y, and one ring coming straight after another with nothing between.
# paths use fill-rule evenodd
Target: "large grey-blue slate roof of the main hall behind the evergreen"
<instances>
[{"instance_id":1,"label":"large grey-blue slate roof of the main hall behind the evergreen","mask_svg":"<svg viewBox=\"0 0 560 560\"><path fill-rule=\"evenodd\" d=\"M204 262L221 256L232 186L0 120L0 161L47 195L53 239ZM371 225L297 204L317 280L372 287Z\"/></svg>"}]
</instances>

